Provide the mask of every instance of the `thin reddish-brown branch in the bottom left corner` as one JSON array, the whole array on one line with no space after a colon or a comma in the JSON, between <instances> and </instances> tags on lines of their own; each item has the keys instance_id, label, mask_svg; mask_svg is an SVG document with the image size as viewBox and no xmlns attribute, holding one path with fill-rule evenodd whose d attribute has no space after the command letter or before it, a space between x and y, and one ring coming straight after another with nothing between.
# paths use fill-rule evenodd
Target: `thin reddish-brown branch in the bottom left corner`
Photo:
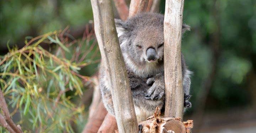
<instances>
[{"instance_id":1,"label":"thin reddish-brown branch in the bottom left corner","mask_svg":"<svg viewBox=\"0 0 256 133\"><path fill-rule=\"evenodd\" d=\"M20 126L17 126L11 119L10 112L1 88L0 88L0 107L2 112L4 113L4 116L0 114L0 117L1 117L0 125L5 127L11 133L23 133Z\"/></svg>"}]
</instances>

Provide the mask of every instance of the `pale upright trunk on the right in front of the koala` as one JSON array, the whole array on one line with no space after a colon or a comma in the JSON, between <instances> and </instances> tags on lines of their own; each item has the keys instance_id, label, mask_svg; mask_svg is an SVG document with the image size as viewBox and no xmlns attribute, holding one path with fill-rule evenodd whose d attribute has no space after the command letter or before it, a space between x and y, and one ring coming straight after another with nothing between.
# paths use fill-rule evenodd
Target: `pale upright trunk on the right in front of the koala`
<instances>
[{"instance_id":1,"label":"pale upright trunk on the right in front of the koala","mask_svg":"<svg viewBox=\"0 0 256 133\"><path fill-rule=\"evenodd\" d=\"M184 0L166 0L164 17L165 117L183 118L181 30Z\"/></svg>"}]
</instances>

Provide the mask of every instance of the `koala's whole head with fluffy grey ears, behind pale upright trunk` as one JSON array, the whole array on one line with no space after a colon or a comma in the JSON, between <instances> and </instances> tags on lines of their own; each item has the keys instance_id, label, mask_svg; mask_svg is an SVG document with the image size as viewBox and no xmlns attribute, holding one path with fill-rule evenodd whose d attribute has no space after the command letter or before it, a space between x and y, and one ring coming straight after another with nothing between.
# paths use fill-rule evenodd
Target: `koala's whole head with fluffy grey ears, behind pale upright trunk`
<instances>
[{"instance_id":1,"label":"koala's whole head with fluffy grey ears, behind pale upright trunk","mask_svg":"<svg viewBox=\"0 0 256 133\"><path fill-rule=\"evenodd\" d=\"M164 15L139 13L126 21L115 19L124 61L136 74L158 73L163 69ZM182 32L189 30L182 26Z\"/></svg>"}]
</instances>

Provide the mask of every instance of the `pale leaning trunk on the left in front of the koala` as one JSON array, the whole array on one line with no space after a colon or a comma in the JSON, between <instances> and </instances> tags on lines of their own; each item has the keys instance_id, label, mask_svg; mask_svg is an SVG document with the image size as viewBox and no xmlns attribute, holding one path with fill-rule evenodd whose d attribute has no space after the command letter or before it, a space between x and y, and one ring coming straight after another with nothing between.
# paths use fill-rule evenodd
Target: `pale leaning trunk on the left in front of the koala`
<instances>
[{"instance_id":1,"label":"pale leaning trunk on the left in front of the koala","mask_svg":"<svg viewBox=\"0 0 256 133\"><path fill-rule=\"evenodd\" d=\"M111 1L91 0L91 4L102 63L111 85L118 131L120 133L138 132L132 92L117 38Z\"/></svg>"}]
</instances>

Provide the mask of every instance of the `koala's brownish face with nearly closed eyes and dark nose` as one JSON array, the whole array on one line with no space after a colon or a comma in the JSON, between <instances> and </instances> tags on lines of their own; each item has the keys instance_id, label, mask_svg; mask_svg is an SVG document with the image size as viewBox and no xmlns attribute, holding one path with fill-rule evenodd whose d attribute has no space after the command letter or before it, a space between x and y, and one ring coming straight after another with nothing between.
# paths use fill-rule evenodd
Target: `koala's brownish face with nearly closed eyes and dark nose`
<instances>
[{"instance_id":1,"label":"koala's brownish face with nearly closed eyes and dark nose","mask_svg":"<svg viewBox=\"0 0 256 133\"><path fill-rule=\"evenodd\" d=\"M132 32L130 54L140 64L157 63L164 56L164 28L163 26L146 26Z\"/></svg>"}]
</instances>

